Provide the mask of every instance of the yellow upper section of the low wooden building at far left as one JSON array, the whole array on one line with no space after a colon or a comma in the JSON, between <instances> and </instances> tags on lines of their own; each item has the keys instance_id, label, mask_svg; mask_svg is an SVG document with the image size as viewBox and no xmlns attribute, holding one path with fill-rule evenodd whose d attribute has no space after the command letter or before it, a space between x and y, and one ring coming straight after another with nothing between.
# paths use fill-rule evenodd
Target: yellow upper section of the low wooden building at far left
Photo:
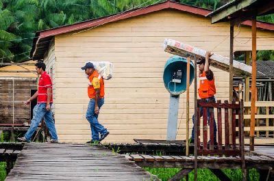
<instances>
[{"instance_id":1,"label":"yellow upper section of the low wooden building at far left","mask_svg":"<svg viewBox=\"0 0 274 181\"><path fill-rule=\"evenodd\" d=\"M24 63L27 64L35 64L37 61L34 60L29 60L25 61ZM1 72L0 71L0 77L24 77L24 78L37 78L36 72L26 72L28 70L30 71L36 71L35 66L17 66L17 65L12 65L12 66L5 66L0 68L2 71L7 71L7 72ZM8 72L11 71L11 72ZM13 72L14 71L14 72ZM23 72L21 72L23 71Z\"/></svg>"}]
</instances>

